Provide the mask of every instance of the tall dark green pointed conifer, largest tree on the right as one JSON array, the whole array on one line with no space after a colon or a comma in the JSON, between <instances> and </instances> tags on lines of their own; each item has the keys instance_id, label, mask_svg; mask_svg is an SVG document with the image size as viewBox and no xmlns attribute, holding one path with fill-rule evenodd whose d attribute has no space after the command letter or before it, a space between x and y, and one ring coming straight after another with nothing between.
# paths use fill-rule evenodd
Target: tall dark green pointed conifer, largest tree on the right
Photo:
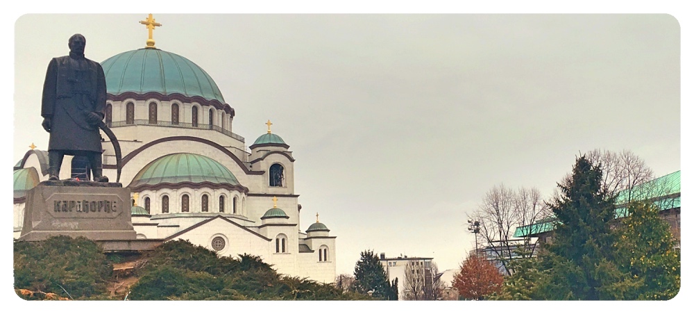
<instances>
[{"instance_id":1,"label":"tall dark green pointed conifer, largest tree on the right","mask_svg":"<svg viewBox=\"0 0 694 314\"><path fill-rule=\"evenodd\" d=\"M542 268L551 270L539 288L543 299L621 299L616 283L629 284L613 263L613 199L601 184L602 171L585 156L577 158L561 195L550 204L557 217L555 237Z\"/></svg>"}]
</instances>

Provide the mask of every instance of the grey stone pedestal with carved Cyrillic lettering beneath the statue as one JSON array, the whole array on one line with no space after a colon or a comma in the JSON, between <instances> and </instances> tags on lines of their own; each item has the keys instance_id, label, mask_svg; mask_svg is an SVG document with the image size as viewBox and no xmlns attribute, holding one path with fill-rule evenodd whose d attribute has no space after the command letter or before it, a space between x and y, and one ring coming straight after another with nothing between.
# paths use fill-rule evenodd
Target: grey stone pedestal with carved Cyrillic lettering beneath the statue
<instances>
[{"instance_id":1,"label":"grey stone pedestal with carved Cyrillic lettering beneath the statue","mask_svg":"<svg viewBox=\"0 0 694 314\"><path fill-rule=\"evenodd\" d=\"M19 241L51 236L134 240L130 190L120 183L44 181L26 195Z\"/></svg>"}]
</instances>

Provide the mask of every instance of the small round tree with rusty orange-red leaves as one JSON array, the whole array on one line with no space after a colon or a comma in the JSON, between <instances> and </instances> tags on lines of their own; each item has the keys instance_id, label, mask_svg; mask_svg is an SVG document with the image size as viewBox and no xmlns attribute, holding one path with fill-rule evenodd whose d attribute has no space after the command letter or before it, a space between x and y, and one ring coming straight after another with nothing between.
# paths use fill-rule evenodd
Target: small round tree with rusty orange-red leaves
<instances>
[{"instance_id":1,"label":"small round tree with rusty orange-red leaves","mask_svg":"<svg viewBox=\"0 0 694 314\"><path fill-rule=\"evenodd\" d=\"M483 256L470 254L453 277L453 287L466 299L481 300L498 292L504 278L499 270Z\"/></svg>"}]
</instances>

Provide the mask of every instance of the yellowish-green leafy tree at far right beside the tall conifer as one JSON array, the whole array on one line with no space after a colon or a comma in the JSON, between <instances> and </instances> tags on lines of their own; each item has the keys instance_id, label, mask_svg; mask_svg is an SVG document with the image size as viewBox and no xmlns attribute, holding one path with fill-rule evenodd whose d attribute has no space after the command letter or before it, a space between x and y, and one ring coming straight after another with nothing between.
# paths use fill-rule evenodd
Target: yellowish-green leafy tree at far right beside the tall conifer
<instances>
[{"instance_id":1,"label":"yellowish-green leafy tree at far right beside the tall conifer","mask_svg":"<svg viewBox=\"0 0 694 314\"><path fill-rule=\"evenodd\" d=\"M679 292L680 261L677 240L654 204L637 202L618 227L616 245L620 270L636 285L627 299L672 299ZM618 288L618 287L616 287Z\"/></svg>"}]
</instances>

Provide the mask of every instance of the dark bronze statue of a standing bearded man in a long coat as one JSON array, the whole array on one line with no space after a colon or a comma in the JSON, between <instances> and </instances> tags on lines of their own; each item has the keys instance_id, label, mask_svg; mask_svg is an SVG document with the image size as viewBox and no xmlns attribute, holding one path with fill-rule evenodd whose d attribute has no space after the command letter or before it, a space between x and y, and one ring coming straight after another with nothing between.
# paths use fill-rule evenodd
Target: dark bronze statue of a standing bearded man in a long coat
<instances>
[{"instance_id":1,"label":"dark bronze statue of a standing bearded man in a long coat","mask_svg":"<svg viewBox=\"0 0 694 314\"><path fill-rule=\"evenodd\" d=\"M92 178L108 182L101 174L99 122L106 104L106 80L99 63L85 58L83 35L68 40L69 56L53 58L46 71L41 116L43 128L51 133L49 180L59 180L63 157L86 156Z\"/></svg>"}]
</instances>

